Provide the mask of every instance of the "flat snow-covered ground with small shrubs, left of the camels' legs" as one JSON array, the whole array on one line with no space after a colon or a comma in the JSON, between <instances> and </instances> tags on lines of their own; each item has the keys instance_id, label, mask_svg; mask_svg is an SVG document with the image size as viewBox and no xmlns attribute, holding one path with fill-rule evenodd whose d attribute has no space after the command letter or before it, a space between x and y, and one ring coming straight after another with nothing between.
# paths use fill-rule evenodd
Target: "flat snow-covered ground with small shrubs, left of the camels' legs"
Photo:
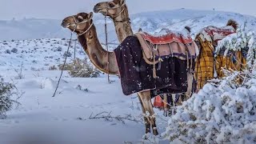
<instances>
[{"instance_id":1,"label":"flat snow-covered ground with small shrubs, left of the camels' legs","mask_svg":"<svg viewBox=\"0 0 256 144\"><path fill-rule=\"evenodd\" d=\"M77 58L85 58L82 48L77 46ZM65 72L57 95L52 97L61 72L48 69L63 62L67 40L0 42L0 47L0 74L24 92L18 99L21 106L0 120L0 143L140 143L145 133L140 103L136 94L129 97L122 94L117 77L111 77L114 82L108 84L104 74L100 78L70 78ZM74 58L74 48L70 53L69 62ZM24 78L17 79L21 66ZM163 132L168 118L156 111L165 119L157 120L158 129ZM111 112L111 116L130 115L138 122L89 119L90 114L102 112Z\"/></svg>"}]
</instances>

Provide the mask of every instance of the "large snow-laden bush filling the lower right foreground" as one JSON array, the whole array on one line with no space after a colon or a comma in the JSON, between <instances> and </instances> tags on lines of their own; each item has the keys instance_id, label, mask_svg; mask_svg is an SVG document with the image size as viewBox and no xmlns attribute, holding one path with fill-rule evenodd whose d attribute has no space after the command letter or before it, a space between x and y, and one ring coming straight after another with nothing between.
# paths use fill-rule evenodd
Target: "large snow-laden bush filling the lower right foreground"
<instances>
[{"instance_id":1,"label":"large snow-laden bush filling the lower right foreground","mask_svg":"<svg viewBox=\"0 0 256 144\"><path fill-rule=\"evenodd\" d=\"M254 78L251 80L255 81ZM226 78L217 87L206 84L178 106L162 135L185 143L254 143L256 87L249 81L232 88L229 80L230 77Z\"/></svg>"}]
</instances>

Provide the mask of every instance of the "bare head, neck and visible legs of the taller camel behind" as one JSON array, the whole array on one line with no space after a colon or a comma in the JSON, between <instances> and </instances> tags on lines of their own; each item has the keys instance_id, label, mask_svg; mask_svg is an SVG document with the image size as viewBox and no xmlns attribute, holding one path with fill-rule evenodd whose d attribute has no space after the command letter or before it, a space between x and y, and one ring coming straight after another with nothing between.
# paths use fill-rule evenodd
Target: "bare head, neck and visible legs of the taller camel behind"
<instances>
[{"instance_id":1,"label":"bare head, neck and visible legs of the taller camel behind","mask_svg":"<svg viewBox=\"0 0 256 144\"><path fill-rule=\"evenodd\" d=\"M114 22L114 27L116 30L116 33L118 35L118 41L121 43L126 37L133 35L133 30L130 26L130 18L129 18L129 12L128 8L126 6L126 0L114 0L111 2L98 2L94 6L94 13L101 13L105 16L108 16L112 19ZM189 28L186 28L189 29ZM189 79L189 85L188 90L186 92L185 99L190 98L190 95L192 95L192 78L193 74L188 74ZM172 94L173 102L175 99L175 94ZM183 97L184 98L184 97ZM164 115L168 115L167 113L170 113L170 105L167 104L166 101L166 94L164 94ZM180 98L182 100L182 98ZM181 102L178 102L181 104ZM174 105L174 103L172 103Z\"/></svg>"}]
</instances>

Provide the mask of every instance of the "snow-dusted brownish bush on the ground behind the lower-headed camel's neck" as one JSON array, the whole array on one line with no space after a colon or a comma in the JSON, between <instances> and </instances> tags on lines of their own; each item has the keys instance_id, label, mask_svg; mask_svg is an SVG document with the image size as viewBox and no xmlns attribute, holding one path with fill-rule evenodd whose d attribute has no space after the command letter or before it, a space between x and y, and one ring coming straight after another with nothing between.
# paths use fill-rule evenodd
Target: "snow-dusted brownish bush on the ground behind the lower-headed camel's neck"
<instances>
[{"instance_id":1,"label":"snow-dusted brownish bush on the ground behind the lower-headed camel's neck","mask_svg":"<svg viewBox=\"0 0 256 144\"><path fill-rule=\"evenodd\" d=\"M73 69L69 71L69 74L72 77L78 78L97 78L100 71L95 69L87 59L82 60L77 58L73 62Z\"/></svg>"}]
</instances>

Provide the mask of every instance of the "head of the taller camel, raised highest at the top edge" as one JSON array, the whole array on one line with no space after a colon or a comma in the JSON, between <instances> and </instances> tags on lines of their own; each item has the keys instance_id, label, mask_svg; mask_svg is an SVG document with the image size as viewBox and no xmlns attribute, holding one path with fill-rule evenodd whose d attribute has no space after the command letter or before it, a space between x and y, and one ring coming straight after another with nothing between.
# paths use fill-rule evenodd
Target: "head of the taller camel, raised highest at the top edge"
<instances>
[{"instance_id":1,"label":"head of the taller camel, raised highest at the top edge","mask_svg":"<svg viewBox=\"0 0 256 144\"><path fill-rule=\"evenodd\" d=\"M94 6L94 13L102 13L110 18L116 18L126 8L126 0L99 2Z\"/></svg>"}]
</instances>

